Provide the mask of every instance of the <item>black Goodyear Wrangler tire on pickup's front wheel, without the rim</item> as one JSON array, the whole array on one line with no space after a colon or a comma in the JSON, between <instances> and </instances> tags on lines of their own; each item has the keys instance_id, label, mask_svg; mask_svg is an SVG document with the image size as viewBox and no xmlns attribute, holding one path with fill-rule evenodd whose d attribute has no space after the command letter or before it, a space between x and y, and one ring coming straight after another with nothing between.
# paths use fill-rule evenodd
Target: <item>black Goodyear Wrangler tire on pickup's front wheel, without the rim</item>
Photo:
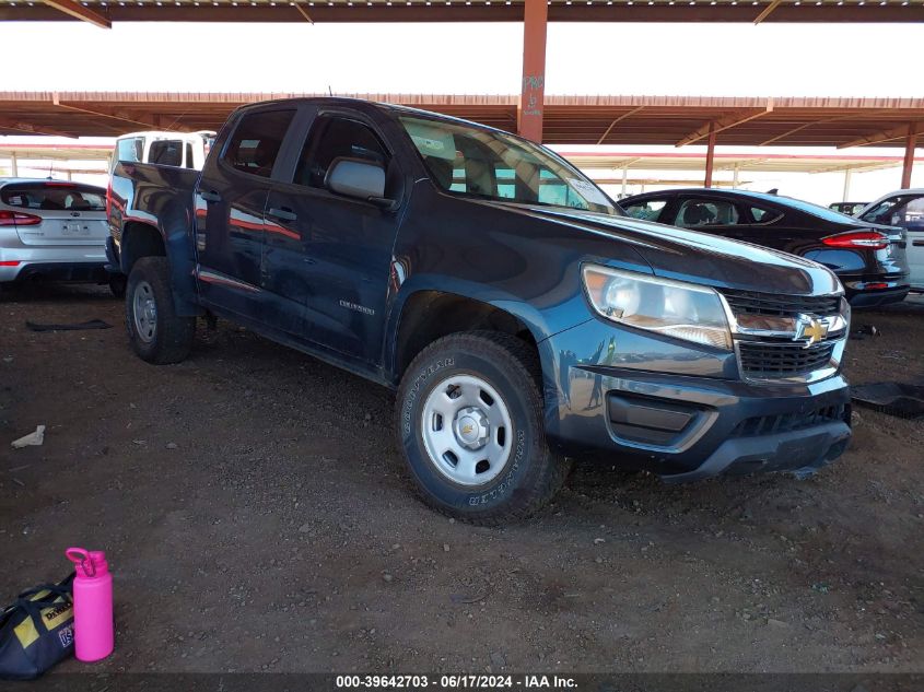
<instances>
[{"instance_id":1,"label":"black Goodyear Wrangler tire on pickup's front wheel, without the rim","mask_svg":"<svg viewBox=\"0 0 924 692\"><path fill-rule=\"evenodd\" d=\"M423 441L423 408L448 377L473 375L503 398L513 445L502 471L483 485L458 484L436 467ZM549 449L543 429L541 370L535 349L511 335L449 335L424 349L401 379L396 402L398 444L419 495L431 507L481 525L536 513L561 489L571 462Z\"/></svg>"}]
</instances>

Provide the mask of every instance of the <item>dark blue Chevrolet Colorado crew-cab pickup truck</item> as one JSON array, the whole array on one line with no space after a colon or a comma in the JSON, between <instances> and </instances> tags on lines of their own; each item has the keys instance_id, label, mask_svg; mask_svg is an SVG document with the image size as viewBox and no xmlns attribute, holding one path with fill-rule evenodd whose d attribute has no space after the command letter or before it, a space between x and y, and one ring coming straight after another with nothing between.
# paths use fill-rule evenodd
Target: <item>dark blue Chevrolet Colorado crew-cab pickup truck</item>
<instances>
[{"instance_id":1,"label":"dark blue Chevrolet Colorado crew-cab pickup truck","mask_svg":"<svg viewBox=\"0 0 924 692\"><path fill-rule=\"evenodd\" d=\"M396 389L420 495L466 520L535 512L575 457L667 481L806 474L850 438L828 269L629 219L500 130L255 104L201 173L118 163L108 219L140 357L180 361L197 317L221 317Z\"/></svg>"}]
</instances>

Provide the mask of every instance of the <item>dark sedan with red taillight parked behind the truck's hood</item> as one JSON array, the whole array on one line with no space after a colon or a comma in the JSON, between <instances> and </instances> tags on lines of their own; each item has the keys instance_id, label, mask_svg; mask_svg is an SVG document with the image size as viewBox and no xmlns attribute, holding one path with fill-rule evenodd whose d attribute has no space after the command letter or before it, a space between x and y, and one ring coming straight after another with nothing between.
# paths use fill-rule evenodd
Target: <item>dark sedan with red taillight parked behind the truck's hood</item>
<instances>
[{"instance_id":1,"label":"dark sedan with red taillight parked behind the truck's hood","mask_svg":"<svg viewBox=\"0 0 924 692\"><path fill-rule=\"evenodd\" d=\"M905 232L790 197L683 189L627 197L636 219L721 235L799 255L838 274L854 306L902 301L910 288Z\"/></svg>"}]
</instances>

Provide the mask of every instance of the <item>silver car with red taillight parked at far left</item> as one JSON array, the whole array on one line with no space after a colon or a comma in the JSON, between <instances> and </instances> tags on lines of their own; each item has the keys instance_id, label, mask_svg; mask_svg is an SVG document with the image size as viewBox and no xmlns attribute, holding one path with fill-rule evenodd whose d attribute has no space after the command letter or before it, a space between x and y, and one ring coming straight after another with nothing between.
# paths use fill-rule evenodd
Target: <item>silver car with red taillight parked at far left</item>
<instances>
[{"instance_id":1,"label":"silver car with red taillight parked at far left","mask_svg":"<svg viewBox=\"0 0 924 692\"><path fill-rule=\"evenodd\" d=\"M0 285L33 278L108 282L106 190L65 180L0 178Z\"/></svg>"}]
</instances>

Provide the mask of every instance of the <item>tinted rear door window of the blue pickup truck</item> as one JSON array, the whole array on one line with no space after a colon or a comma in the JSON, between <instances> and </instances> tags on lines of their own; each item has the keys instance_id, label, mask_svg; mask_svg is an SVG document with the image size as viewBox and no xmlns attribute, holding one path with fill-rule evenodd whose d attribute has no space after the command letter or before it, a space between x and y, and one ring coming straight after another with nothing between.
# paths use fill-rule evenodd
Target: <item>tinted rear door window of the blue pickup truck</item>
<instances>
[{"instance_id":1,"label":"tinted rear door window of the blue pickup truck","mask_svg":"<svg viewBox=\"0 0 924 692\"><path fill-rule=\"evenodd\" d=\"M244 116L224 149L222 161L235 171L268 178L295 110L260 110Z\"/></svg>"}]
</instances>

